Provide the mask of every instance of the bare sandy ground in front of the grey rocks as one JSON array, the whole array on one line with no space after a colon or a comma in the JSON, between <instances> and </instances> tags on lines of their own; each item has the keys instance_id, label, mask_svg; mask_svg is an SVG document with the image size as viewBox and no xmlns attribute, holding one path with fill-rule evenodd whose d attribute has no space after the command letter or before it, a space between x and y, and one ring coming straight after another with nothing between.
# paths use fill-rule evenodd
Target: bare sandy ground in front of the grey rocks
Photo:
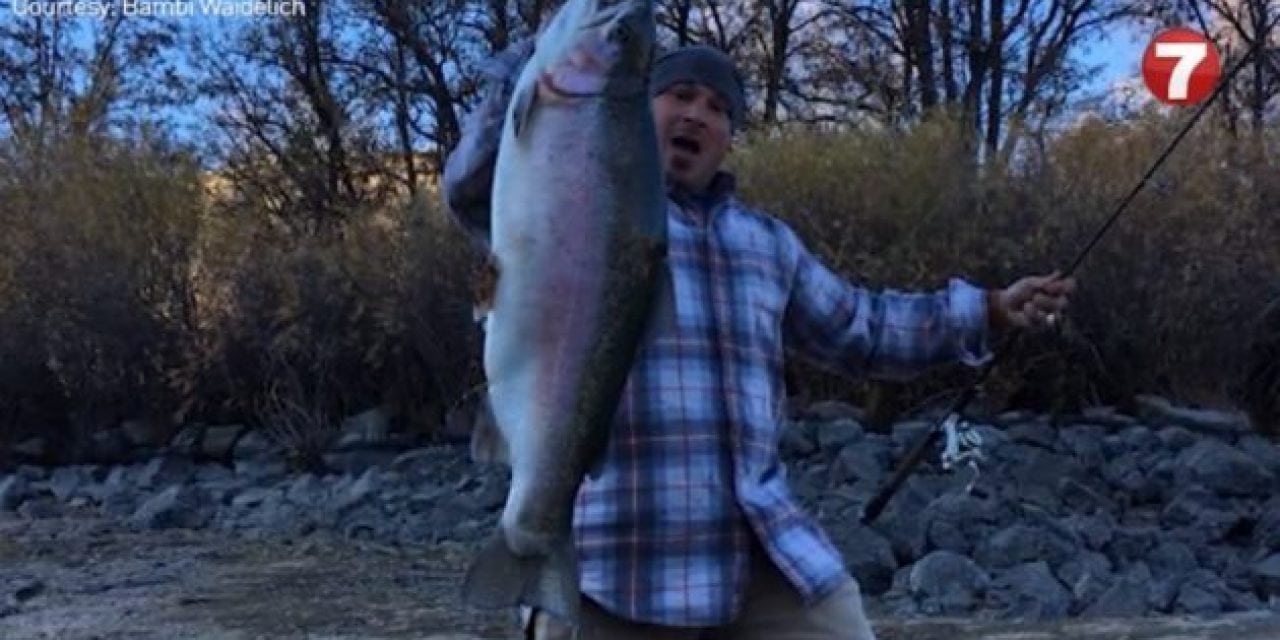
<instances>
[{"instance_id":1,"label":"bare sandy ground in front of the grey rocks","mask_svg":"<svg viewBox=\"0 0 1280 640\"><path fill-rule=\"evenodd\" d=\"M468 557L458 547L132 532L90 516L3 518L3 640L517 637L509 616L458 603ZM1052 623L874 616L874 623L888 640L1280 640L1280 617L1263 613Z\"/></svg>"}]
</instances>

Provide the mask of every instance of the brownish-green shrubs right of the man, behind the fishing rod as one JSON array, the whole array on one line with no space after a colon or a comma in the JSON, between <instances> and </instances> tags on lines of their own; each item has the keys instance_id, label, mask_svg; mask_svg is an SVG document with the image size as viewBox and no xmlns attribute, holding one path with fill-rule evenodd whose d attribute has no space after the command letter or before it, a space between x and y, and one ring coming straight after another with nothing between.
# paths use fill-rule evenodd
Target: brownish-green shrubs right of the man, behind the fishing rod
<instances>
[{"instance_id":1,"label":"brownish-green shrubs right of the man, behind the fishing rod","mask_svg":"<svg viewBox=\"0 0 1280 640\"><path fill-rule=\"evenodd\" d=\"M790 221L837 271L872 288L987 287L1064 269L1171 140L1156 113L1084 122L1020 164L965 161L946 120L909 132L788 133L733 156L744 197ZM1277 294L1275 159L1201 127L1088 256L1061 338L1024 337L989 404L1062 411L1133 393L1224 404L1238 396L1242 338ZM795 387L896 408L957 390L957 367L911 384L850 385L803 365Z\"/></svg>"}]
</instances>

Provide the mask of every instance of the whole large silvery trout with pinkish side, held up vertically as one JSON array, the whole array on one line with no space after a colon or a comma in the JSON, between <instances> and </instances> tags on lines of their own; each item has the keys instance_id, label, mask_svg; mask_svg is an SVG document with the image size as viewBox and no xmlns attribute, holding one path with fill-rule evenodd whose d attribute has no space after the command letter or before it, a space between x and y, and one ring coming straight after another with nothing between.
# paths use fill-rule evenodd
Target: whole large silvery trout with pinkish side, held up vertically
<instances>
[{"instance_id":1,"label":"whole large silvery trout with pinkish side, held up vertically","mask_svg":"<svg viewBox=\"0 0 1280 640\"><path fill-rule=\"evenodd\" d=\"M637 346L671 317L653 44L653 0L568 0L507 110L480 310L497 428L477 430L472 452L506 460L512 483L463 584L476 605L577 621L575 497Z\"/></svg>"}]
</instances>

